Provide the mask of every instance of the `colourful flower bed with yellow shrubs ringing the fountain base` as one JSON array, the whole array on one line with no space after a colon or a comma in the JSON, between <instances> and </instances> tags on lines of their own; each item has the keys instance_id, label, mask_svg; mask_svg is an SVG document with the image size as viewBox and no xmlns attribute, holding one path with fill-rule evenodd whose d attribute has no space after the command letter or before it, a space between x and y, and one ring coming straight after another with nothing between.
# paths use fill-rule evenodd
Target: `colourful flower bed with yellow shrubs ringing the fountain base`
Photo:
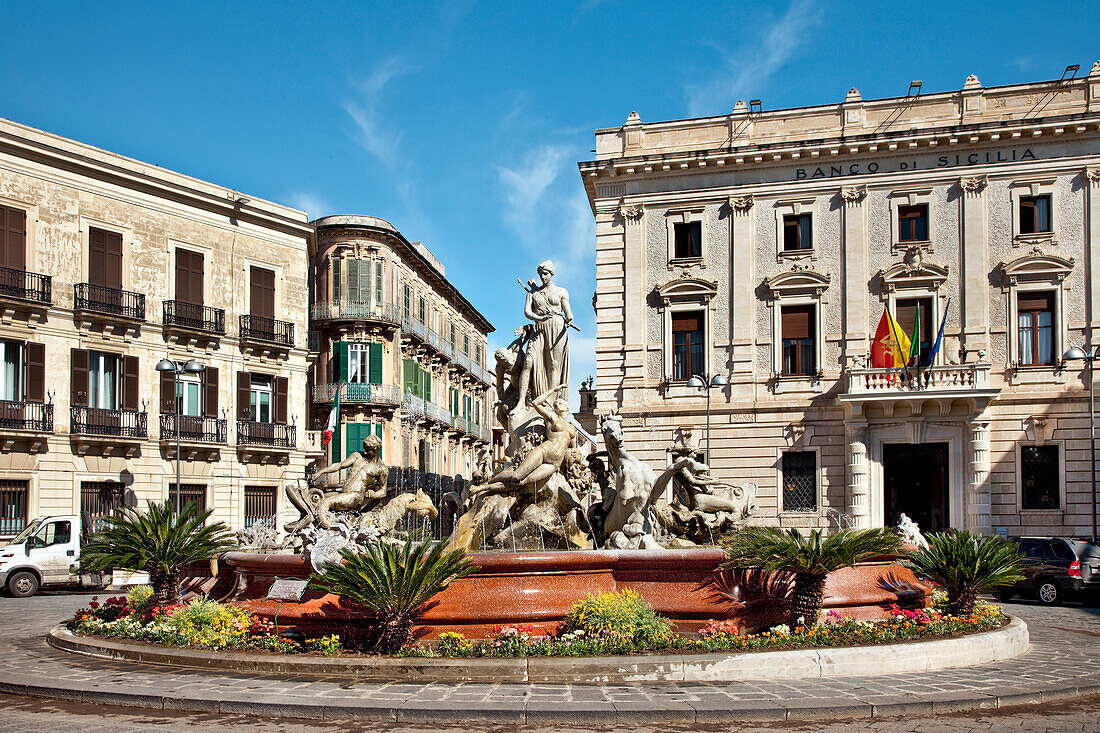
<instances>
[{"instance_id":1,"label":"colourful flower bed with yellow shrubs ringing the fountain base","mask_svg":"<svg viewBox=\"0 0 1100 733\"><path fill-rule=\"evenodd\" d=\"M275 633L268 621L213 601L198 599L164 610L153 609L144 591L130 597L92 600L77 612L70 628L80 634L120 637L174 647L275 652L282 654L350 655L337 635L294 641ZM942 594L936 599L942 605ZM897 605L891 617L880 622L842 617L835 612L820 624L773 626L757 634L739 635L732 621L712 621L697 636L671 631L668 620L656 614L634 591L603 593L578 602L554 635L538 635L525 625L497 627L491 638L473 642L447 632L438 645L411 644L403 657L591 657L648 652L762 652L892 644L960 636L990 631L1007 622L1000 606L979 603L975 613L952 616L936 608L908 611Z\"/></svg>"}]
</instances>

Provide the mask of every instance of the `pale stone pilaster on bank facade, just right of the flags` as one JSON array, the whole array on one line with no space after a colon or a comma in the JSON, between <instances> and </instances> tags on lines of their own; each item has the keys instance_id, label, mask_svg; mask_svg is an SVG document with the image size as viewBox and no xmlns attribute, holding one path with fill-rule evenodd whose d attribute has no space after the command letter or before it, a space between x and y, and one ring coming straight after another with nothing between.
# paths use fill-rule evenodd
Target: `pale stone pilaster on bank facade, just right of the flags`
<instances>
[{"instance_id":1,"label":"pale stone pilaster on bank facade, just right of the flags","mask_svg":"<svg viewBox=\"0 0 1100 733\"><path fill-rule=\"evenodd\" d=\"M986 176L959 179L963 189L963 348L966 361L989 351L989 266L986 254Z\"/></svg>"}]
</instances>

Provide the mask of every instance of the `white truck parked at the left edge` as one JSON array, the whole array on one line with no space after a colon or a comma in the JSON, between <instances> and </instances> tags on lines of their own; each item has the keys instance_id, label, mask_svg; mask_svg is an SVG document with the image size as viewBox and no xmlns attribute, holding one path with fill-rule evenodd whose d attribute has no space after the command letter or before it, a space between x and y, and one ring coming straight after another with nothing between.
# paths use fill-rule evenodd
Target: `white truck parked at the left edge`
<instances>
[{"instance_id":1,"label":"white truck parked at the left edge","mask_svg":"<svg viewBox=\"0 0 1100 733\"><path fill-rule=\"evenodd\" d=\"M23 532L0 547L0 588L16 598L34 595L43 586L102 588L110 573L81 575L80 517L62 514L34 519ZM88 533L90 534L90 533Z\"/></svg>"}]
</instances>

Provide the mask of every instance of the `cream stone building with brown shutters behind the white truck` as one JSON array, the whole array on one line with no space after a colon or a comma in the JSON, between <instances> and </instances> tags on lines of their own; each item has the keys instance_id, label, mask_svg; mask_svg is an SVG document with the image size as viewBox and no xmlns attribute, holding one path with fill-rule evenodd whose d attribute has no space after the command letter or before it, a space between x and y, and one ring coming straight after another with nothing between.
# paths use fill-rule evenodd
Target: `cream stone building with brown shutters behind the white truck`
<instances>
[{"instance_id":1,"label":"cream stone building with brown shutters behind the white truck","mask_svg":"<svg viewBox=\"0 0 1100 733\"><path fill-rule=\"evenodd\" d=\"M3 120L0 212L0 535L174 499L177 438L180 499L273 521L322 457L306 215Z\"/></svg>"}]
</instances>

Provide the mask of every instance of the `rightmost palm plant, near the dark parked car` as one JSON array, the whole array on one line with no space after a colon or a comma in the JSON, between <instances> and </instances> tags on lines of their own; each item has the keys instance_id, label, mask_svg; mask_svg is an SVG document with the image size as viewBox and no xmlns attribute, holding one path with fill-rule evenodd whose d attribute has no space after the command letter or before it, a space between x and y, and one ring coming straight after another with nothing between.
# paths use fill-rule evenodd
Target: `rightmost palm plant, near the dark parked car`
<instances>
[{"instance_id":1,"label":"rightmost palm plant, near the dark parked car","mask_svg":"<svg viewBox=\"0 0 1100 733\"><path fill-rule=\"evenodd\" d=\"M978 593L1023 579L1020 550L1000 535L942 532L927 540L928 547L910 553L902 564L944 587L953 615L971 615Z\"/></svg>"}]
</instances>

